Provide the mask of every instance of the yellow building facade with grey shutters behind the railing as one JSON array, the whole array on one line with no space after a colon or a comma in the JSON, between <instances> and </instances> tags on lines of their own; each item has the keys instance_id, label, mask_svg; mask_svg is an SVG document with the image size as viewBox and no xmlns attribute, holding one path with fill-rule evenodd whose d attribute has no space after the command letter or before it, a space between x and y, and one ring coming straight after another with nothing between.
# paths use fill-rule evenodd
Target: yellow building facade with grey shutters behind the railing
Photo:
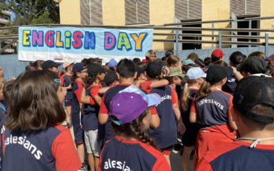
<instances>
[{"instance_id":1,"label":"yellow building facade with grey shutters behind the railing","mask_svg":"<svg viewBox=\"0 0 274 171\"><path fill-rule=\"evenodd\" d=\"M274 16L273 9L273 0L66 0L60 3L60 23L163 25L188 21ZM256 21L252 23L252 28L271 29L272 23L274 20ZM248 23L238 23L233 27L248 28L248 26ZM212 27L212 25L207 23L192 25L192 27ZM214 27L230 28L232 25L216 23ZM170 32L166 31L166 33ZM202 31L202 34L212 34L212 32ZM155 36L154 38L164 37ZM202 40L212 40L212 38L202 38ZM208 48L209 46L211 45L203 44L203 46L195 48ZM173 49L173 43L155 42L153 49Z\"/></svg>"}]
</instances>

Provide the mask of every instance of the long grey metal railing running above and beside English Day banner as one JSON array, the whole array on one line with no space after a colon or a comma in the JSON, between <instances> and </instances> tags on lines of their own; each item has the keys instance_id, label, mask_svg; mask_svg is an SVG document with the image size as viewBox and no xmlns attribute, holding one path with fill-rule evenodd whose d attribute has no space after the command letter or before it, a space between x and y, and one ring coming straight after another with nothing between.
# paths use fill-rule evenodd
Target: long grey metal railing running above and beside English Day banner
<instances>
[{"instance_id":1,"label":"long grey metal railing running above and beside English Day banner","mask_svg":"<svg viewBox=\"0 0 274 171\"><path fill-rule=\"evenodd\" d=\"M186 23L169 23L165 25L148 25L148 26L113 26L113 25L58 25L58 24L47 24L47 25L27 25L28 27L101 27L101 28L114 28L114 29L136 29L136 28L147 28L154 29L153 36L165 36L165 38L153 38L153 42L173 42L175 43L175 54L179 53L179 44L180 43L195 43L195 44L218 44L219 48L222 48L223 44L237 44L237 45L248 45L250 46L264 46L265 53L267 53L266 49L269 45L274 45L273 43L269 43L269 39L274 39L274 37L269 36L269 33L274 33L274 29L233 29L233 28L214 28L214 23L227 23L227 22L240 22L240 21L258 21L258 20L268 20L273 19L274 16L268 17L256 17L256 18L244 18L240 20L222 20L222 21L195 21L195 22L186 22ZM196 24L206 24L212 23L212 27L184 27L184 25L196 25ZM179 26L179 27L178 27ZM249 24L249 27L251 25ZM15 29L18 32L18 26L12 27L0 27L0 31L3 30L12 30ZM163 32L160 32L163 31ZM170 33L166 33L169 31ZM211 31L212 34L182 34L180 31ZM218 34L214 34L217 32ZM225 32L225 34L224 34ZM227 34L229 32L230 34ZM247 32L249 35L238 35L238 32ZM237 33L237 34L233 34ZM264 36L252 36L251 33L264 33ZM168 36L168 38L166 38ZM171 37L171 38L170 38ZM180 37L197 37L197 38L206 38L211 37L212 40L186 40ZM216 40L214 40L216 38ZM245 41L227 41L223 40L223 38L241 38L247 39L248 42ZM14 40L18 40L18 34L8 34L8 35L0 35L1 40L12 40L12 42L16 42ZM257 42L251 42L251 40L256 40ZM259 40L259 41L258 41ZM260 40L263 40L262 42ZM5 49L8 47L5 46ZM0 53L5 51L4 48L1 49ZM266 54L267 55L267 54Z\"/></svg>"}]
</instances>

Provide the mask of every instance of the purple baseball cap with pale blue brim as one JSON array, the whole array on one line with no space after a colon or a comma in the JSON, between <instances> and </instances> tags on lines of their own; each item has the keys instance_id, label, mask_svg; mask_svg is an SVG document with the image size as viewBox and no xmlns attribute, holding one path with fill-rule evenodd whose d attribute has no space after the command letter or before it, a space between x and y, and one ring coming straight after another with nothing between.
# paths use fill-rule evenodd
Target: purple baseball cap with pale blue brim
<instances>
[{"instance_id":1,"label":"purple baseball cap with pale blue brim","mask_svg":"<svg viewBox=\"0 0 274 171\"><path fill-rule=\"evenodd\" d=\"M139 88L132 85L116 94L110 102L110 116L119 120L112 120L121 125L132 122L144 112L147 107L158 105L161 102L159 94L145 94Z\"/></svg>"}]
</instances>

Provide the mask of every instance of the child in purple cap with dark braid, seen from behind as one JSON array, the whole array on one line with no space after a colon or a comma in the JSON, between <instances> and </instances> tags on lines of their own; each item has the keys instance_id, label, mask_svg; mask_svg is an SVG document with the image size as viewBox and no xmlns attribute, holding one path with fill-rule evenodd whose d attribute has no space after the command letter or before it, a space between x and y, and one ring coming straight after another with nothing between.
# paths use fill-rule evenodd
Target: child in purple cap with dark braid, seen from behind
<instances>
[{"instance_id":1,"label":"child in purple cap with dark braid, seen from behind","mask_svg":"<svg viewBox=\"0 0 274 171\"><path fill-rule=\"evenodd\" d=\"M116 136L105 144L99 170L171 170L147 133L151 120L148 107L158 103L158 94L146 95L136 86L112 98L110 118Z\"/></svg>"}]
</instances>

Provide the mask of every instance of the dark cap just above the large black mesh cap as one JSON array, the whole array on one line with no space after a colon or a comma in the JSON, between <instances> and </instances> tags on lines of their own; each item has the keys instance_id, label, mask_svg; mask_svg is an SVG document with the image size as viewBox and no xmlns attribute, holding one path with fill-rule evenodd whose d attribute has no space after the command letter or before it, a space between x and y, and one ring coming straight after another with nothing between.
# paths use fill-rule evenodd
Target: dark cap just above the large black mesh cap
<instances>
[{"instance_id":1,"label":"dark cap just above the large black mesh cap","mask_svg":"<svg viewBox=\"0 0 274 171\"><path fill-rule=\"evenodd\" d=\"M240 65L240 72L245 71L253 74L266 73L266 62L260 57L247 57L247 60Z\"/></svg>"}]
</instances>

